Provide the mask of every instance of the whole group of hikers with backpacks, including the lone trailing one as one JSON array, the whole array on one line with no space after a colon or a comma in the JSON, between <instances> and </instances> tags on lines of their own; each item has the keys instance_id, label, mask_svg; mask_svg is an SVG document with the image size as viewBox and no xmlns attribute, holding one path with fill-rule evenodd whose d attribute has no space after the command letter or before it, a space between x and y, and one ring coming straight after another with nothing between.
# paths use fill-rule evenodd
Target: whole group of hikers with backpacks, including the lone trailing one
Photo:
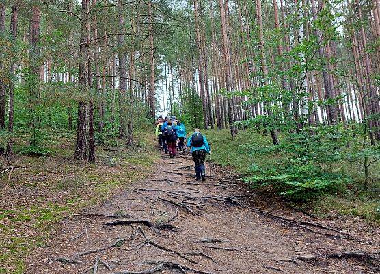
<instances>
[{"instance_id":1,"label":"whole group of hikers with backpacks, including the lone trailing one","mask_svg":"<svg viewBox=\"0 0 380 274\"><path fill-rule=\"evenodd\" d=\"M169 153L170 158L176 156L177 149L180 153L185 153L186 147L189 147L194 160L196 180L206 179L204 161L206 153L211 154L211 152L207 138L200 133L200 129L195 129L187 138L186 127L176 116L168 116L165 119L159 116L156 122L156 137L161 149L165 154Z\"/></svg>"}]
</instances>

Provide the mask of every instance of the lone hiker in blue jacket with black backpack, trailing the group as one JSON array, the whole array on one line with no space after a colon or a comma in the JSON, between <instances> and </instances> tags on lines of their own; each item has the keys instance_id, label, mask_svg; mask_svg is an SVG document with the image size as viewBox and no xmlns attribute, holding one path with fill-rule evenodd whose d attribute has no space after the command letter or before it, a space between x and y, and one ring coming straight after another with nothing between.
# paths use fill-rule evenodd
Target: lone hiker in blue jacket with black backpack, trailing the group
<instances>
[{"instance_id":1,"label":"lone hiker in blue jacket with black backpack, trailing the group","mask_svg":"<svg viewBox=\"0 0 380 274\"><path fill-rule=\"evenodd\" d=\"M187 140L187 147L191 147L197 181L200 179L202 181L206 180L204 160L206 159L206 153L211 154L206 136L202 135L199 129L195 129L193 135Z\"/></svg>"}]
</instances>

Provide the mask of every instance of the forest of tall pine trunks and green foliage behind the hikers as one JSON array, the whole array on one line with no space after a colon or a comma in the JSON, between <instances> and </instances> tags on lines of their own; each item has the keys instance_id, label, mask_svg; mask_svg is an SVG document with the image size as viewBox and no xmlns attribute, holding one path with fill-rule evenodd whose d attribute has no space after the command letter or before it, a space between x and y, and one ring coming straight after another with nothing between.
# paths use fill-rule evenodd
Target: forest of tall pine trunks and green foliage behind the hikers
<instances>
[{"instance_id":1,"label":"forest of tall pine trunks and green foliage behind the hikers","mask_svg":"<svg viewBox=\"0 0 380 274\"><path fill-rule=\"evenodd\" d=\"M232 135L255 127L273 145L342 131L366 169L377 153L377 0L14 0L0 12L8 158L18 134L43 154L59 129L95 162L97 144L131 145L159 114Z\"/></svg>"}]
</instances>

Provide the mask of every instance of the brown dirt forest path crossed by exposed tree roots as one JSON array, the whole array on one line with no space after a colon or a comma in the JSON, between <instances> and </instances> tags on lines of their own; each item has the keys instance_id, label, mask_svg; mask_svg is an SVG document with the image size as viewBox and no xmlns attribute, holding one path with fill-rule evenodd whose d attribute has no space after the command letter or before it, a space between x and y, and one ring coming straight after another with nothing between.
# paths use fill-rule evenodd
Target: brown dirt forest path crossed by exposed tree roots
<instances>
[{"instance_id":1,"label":"brown dirt forest path crossed by exposed tree roots","mask_svg":"<svg viewBox=\"0 0 380 274\"><path fill-rule=\"evenodd\" d=\"M355 259L296 258L369 252L379 237L368 245L286 224L247 208L247 190L227 171L214 171L196 182L191 155L162 155L150 178L62 221L48 247L29 257L26 273L376 273Z\"/></svg>"}]
</instances>

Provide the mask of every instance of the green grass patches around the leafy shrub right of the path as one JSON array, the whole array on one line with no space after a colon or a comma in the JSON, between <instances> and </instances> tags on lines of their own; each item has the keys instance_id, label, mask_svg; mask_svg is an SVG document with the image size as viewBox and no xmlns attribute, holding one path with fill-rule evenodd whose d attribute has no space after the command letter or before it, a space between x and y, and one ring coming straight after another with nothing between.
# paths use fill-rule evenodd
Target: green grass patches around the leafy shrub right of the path
<instances>
[{"instance_id":1,"label":"green grass patches around the leafy shrub right of the path","mask_svg":"<svg viewBox=\"0 0 380 274\"><path fill-rule=\"evenodd\" d=\"M230 166L242 177L253 174L253 166L261 169L273 169L286 155L282 153L249 154L245 145L256 143L259 147L271 146L270 136L258 134L254 129L247 129L231 136L228 130L208 130L204 132L211 145L211 160L221 166ZM280 142L282 141L280 134ZM347 162L336 162L329 166L333 171L346 173L353 177L353 184L347 186L342 193L323 195L318 199L302 205L301 208L312 210L318 216L359 216L366 221L380 224L380 164L372 166L370 187L362 186L363 176L360 166Z\"/></svg>"}]
</instances>

